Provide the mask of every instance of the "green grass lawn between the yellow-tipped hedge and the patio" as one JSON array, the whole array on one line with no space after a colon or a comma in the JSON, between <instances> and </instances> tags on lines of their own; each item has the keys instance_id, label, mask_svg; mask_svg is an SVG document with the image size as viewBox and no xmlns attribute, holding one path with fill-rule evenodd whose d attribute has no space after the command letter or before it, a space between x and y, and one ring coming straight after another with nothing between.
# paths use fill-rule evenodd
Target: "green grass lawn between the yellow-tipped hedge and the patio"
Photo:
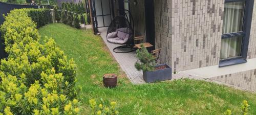
<instances>
[{"instance_id":1,"label":"green grass lawn between the yellow-tipped hedge and the patio","mask_svg":"<svg viewBox=\"0 0 256 115\"><path fill-rule=\"evenodd\" d=\"M256 114L256 95L215 83L175 80L133 85L112 58L100 36L92 30L77 30L63 24L39 29L42 36L53 37L68 58L77 64L77 85L83 114L89 112L89 100L100 98L117 101L120 114L222 114L226 109L240 112L243 100L249 101L250 113ZM104 88L102 76L118 74L118 86Z\"/></svg>"}]
</instances>

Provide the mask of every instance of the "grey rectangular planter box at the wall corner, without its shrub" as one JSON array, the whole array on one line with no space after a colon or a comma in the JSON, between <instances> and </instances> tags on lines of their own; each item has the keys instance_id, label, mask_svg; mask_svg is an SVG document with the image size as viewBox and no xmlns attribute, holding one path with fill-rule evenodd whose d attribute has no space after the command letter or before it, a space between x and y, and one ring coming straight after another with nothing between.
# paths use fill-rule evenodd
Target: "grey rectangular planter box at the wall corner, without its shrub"
<instances>
[{"instance_id":1,"label":"grey rectangular planter box at the wall corner, without its shrub","mask_svg":"<svg viewBox=\"0 0 256 115\"><path fill-rule=\"evenodd\" d=\"M167 67L163 70L143 72L144 81L147 83L152 83L172 79L172 68L169 67L167 64L157 65L156 67L162 65L166 65Z\"/></svg>"}]
</instances>

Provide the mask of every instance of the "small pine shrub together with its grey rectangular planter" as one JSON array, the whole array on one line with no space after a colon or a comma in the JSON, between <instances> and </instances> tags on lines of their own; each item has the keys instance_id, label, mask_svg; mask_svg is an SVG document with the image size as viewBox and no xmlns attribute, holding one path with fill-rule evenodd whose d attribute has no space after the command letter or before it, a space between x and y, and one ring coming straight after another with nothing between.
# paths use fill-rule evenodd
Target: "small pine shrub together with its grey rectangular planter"
<instances>
[{"instance_id":1,"label":"small pine shrub together with its grey rectangular planter","mask_svg":"<svg viewBox=\"0 0 256 115\"><path fill-rule=\"evenodd\" d=\"M144 46L136 51L138 62L135 63L137 70L143 71L143 79L147 83L172 79L172 68L167 64L156 65L155 57L148 53Z\"/></svg>"}]
</instances>

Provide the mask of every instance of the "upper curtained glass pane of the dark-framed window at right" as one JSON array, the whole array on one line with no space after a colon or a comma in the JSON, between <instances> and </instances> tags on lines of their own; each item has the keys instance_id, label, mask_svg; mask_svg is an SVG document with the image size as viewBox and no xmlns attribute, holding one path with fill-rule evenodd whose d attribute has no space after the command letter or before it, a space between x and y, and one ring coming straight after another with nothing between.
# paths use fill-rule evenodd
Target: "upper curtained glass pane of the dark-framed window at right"
<instances>
[{"instance_id":1,"label":"upper curtained glass pane of the dark-framed window at right","mask_svg":"<svg viewBox=\"0 0 256 115\"><path fill-rule=\"evenodd\" d=\"M225 3L222 34L243 31L244 6L244 1Z\"/></svg>"}]
</instances>

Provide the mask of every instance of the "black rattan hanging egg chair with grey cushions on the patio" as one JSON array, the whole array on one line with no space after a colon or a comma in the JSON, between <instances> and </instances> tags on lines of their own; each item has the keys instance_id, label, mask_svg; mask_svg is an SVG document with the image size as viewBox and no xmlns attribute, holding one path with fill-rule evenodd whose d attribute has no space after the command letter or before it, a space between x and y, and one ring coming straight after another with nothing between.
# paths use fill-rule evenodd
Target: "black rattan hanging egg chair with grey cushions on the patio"
<instances>
[{"instance_id":1,"label":"black rattan hanging egg chair with grey cushions on the patio","mask_svg":"<svg viewBox=\"0 0 256 115\"><path fill-rule=\"evenodd\" d=\"M133 20L133 19L132 19ZM108 29L106 40L110 43L120 44L121 46L113 49L115 53L129 53L136 50L134 48L134 29L131 22L125 16L116 16ZM119 51L117 51L119 49ZM129 51L121 51L129 49Z\"/></svg>"}]
</instances>

